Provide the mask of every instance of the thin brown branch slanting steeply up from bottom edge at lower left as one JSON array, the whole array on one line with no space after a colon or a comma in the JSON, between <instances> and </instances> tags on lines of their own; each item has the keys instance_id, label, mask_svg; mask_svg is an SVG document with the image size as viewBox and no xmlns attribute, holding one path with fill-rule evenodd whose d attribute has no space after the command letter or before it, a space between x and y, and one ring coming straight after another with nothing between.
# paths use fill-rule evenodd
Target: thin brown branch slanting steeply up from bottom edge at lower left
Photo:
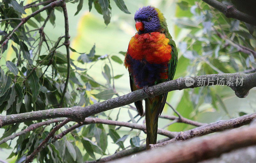
<instances>
[{"instance_id":1,"label":"thin brown branch slanting steeply up from bottom edge at lower left","mask_svg":"<svg viewBox=\"0 0 256 163\"><path fill-rule=\"evenodd\" d=\"M63 122L61 122L60 124L56 125L52 131L46 136L46 138L42 141L42 143L40 143L40 145L29 155L27 156L27 159L26 159L26 162L25 163L28 163L28 162L32 162L34 157L36 156L36 154L38 152L41 151L42 147L50 140L50 138L52 138L52 136L54 135L54 133L56 131L58 131L62 126L64 126L65 124L67 124L68 122L70 122L72 119L70 118L67 118L65 119Z\"/></svg>"}]
</instances>

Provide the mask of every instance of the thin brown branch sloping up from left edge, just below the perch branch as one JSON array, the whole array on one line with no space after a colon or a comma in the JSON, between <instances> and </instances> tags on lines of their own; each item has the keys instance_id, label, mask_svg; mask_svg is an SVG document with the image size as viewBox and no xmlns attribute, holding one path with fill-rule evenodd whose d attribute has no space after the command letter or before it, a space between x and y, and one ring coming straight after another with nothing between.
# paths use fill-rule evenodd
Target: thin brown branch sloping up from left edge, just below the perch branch
<instances>
[{"instance_id":1,"label":"thin brown branch sloping up from left edge, just below the perch branch","mask_svg":"<svg viewBox=\"0 0 256 163\"><path fill-rule=\"evenodd\" d=\"M60 121L64 121L66 118L56 118L56 119L51 119L51 120L48 120L48 121L44 121L44 122L39 122L39 123L36 123L36 124L31 124L28 126L28 128L18 132L18 133L15 133L13 135L10 135L6 138L3 138L2 140L0 140L0 144L2 143L5 143L7 142L8 140L12 140L22 134L25 134L27 132L30 132L32 130L35 130L36 128L38 127L41 127L41 126L44 126L44 125L49 125L49 124L52 124L52 123L57 123L57 122L60 122Z\"/></svg>"}]
</instances>

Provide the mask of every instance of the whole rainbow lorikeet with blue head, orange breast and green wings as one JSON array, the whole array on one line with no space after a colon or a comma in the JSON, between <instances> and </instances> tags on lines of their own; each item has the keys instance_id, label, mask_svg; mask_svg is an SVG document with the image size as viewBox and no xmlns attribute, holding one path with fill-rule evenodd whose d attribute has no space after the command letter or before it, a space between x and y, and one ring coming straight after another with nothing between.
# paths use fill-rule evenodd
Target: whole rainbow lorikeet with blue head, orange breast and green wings
<instances>
[{"instance_id":1,"label":"whole rainbow lorikeet with blue head, orange breast and green wings","mask_svg":"<svg viewBox=\"0 0 256 163\"><path fill-rule=\"evenodd\" d=\"M145 6L134 15L138 31L130 40L124 59L128 68L131 90L172 80L177 67L178 53L163 13L155 7ZM164 109L168 93L145 99L147 149L156 144L158 117ZM142 101L135 106L143 116Z\"/></svg>"}]
</instances>

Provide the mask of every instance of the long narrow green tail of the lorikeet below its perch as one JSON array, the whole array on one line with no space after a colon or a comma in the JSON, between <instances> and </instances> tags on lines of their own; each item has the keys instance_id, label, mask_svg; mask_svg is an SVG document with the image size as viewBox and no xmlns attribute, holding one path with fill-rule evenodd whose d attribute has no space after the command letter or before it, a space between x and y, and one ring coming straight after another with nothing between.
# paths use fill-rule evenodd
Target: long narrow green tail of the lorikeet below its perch
<instances>
[{"instance_id":1,"label":"long narrow green tail of the lorikeet below its perch","mask_svg":"<svg viewBox=\"0 0 256 163\"><path fill-rule=\"evenodd\" d=\"M156 99L157 98L157 99ZM158 126L158 96L150 99L145 99L145 110L146 110L146 130L147 130L147 139L146 145L147 150L149 149L150 144L156 144L157 138L157 126Z\"/></svg>"}]
</instances>

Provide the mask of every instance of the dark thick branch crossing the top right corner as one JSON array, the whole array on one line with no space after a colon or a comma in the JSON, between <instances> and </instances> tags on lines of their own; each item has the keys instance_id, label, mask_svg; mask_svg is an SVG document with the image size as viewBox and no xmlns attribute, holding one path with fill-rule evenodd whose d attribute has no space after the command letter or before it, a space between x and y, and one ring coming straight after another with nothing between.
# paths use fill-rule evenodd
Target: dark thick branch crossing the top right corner
<instances>
[{"instance_id":1,"label":"dark thick branch crossing the top right corner","mask_svg":"<svg viewBox=\"0 0 256 163\"><path fill-rule=\"evenodd\" d=\"M227 18L235 18L237 20L240 20L252 25L256 25L256 18L236 10L234 6L227 6L217 0L202 0L202 1L214 7L215 9L219 10L220 12L222 12Z\"/></svg>"}]
</instances>

